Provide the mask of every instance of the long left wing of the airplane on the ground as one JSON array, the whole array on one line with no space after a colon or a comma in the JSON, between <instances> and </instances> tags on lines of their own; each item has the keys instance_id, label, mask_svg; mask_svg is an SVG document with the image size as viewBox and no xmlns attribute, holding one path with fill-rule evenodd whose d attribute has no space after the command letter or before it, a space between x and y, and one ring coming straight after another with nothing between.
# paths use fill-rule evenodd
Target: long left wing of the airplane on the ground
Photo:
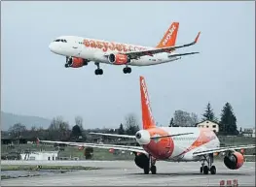
<instances>
[{"instance_id":1,"label":"long left wing of the airplane on the ground","mask_svg":"<svg viewBox=\"0 0 256 187\"><path fill-rule=\"evenodd\" d=\"M84 147L92 147L92 148L102 148L102 149L115 149L115 150L126 150L130 152L139 152L148 154L141 146L128 146L128 145L117 145L117 144L100 144L100 143L86 143L86 142L72 142L72 141L55 141L55 140L39 140L38 142L46 142L46 143L61 143L66 144L68 146L84 146Z\"/></svg>"}]
</instances>

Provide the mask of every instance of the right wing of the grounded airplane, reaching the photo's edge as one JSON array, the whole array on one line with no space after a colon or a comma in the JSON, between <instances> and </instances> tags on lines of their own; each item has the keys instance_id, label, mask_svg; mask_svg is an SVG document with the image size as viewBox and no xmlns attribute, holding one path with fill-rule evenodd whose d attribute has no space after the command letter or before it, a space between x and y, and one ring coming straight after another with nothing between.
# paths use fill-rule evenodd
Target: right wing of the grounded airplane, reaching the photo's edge
<instances>
[{"instance_id":1,"label":"right wing of the grounded airplane, reaching the photo's edge","mask_svg":"<svg viewBox=\"0 0 256 187\"><path fill-rule=\"evenodd\" d=\"M234 151L234 150L238 150L238 149L247 149L247 148L255 148L255 144L204 149L204 150L201 150L201 151L194 152L193 155L194 156L202 156L202 155L210 154L210 153L227 152L227 151Z\"/></svg>"}]
</instances>

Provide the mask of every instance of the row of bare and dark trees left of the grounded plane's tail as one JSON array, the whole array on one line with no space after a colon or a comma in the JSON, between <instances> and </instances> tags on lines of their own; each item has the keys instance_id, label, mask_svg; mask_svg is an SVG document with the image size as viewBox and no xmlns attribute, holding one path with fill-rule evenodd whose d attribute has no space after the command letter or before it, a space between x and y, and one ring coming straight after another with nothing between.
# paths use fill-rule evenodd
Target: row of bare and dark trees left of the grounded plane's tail
<instances>
[{"instance_id":1,"label":"row of bare and dark trees left of the grounded plane's tail","mask_svg":"<svg viewBox=\"0 0 256 187\"><path fill-rule=\"evenodd\" d=\"M83 127L83 118L81 116L75 117L75 124L72 128L67 121L63 120L63 117L55 117L50 126L47 129L32 128L26 129L25 125L21 123L14 124L9 130L8 134L13 138L26 138L33 139L36 138L42 140L72 140L72 141L91 141L90 132L101 132L110 134L121 134L121 135L134 135L139 130L139 123L137 117L129 113L125 118L125 123L121 123L119 128L116 129L87 129ZM109 140L104 138L103 140Z\"/></svg>"}]
</instances>

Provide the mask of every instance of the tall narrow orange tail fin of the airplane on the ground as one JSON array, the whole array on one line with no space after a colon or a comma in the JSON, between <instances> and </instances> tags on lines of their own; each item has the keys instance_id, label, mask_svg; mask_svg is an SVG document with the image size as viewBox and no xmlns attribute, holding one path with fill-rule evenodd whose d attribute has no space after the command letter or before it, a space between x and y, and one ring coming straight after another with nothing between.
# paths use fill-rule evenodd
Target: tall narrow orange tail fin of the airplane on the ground
<instances>
[{"instance_id":1,"label":"tall narrow orange tail fin of the airplane on the ground","mask_svg":"<svg viewBox=\"0 0 256 187\"><path fill-rule=\"evenodd\" d=\"M149 95L145 78L139 77L140 80L140 96L141 96L141 108L142 108L142 122L143 129L149 129L155 127L155 120L152 115L150 107Z\"/></svg>"}]
</instances>

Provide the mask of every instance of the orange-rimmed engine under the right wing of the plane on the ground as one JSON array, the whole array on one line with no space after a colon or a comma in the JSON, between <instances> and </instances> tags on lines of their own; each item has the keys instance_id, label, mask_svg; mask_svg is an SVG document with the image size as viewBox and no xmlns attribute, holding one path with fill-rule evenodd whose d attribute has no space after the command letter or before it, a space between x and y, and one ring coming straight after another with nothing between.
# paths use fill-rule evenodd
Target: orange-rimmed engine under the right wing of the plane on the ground
<instances>
[{"instance_id":1,"label":"orange-rimmed engine under the right wing of the plane on the ground","mask_svg":"<svg viewBox=\"0 0 256 187\"><path fill-rule=\"evenodd\" d=\"M230 170L238 170L243 163L244 157L237 151L224 157L224 164Z\"/></svg>"}]
</instances>

